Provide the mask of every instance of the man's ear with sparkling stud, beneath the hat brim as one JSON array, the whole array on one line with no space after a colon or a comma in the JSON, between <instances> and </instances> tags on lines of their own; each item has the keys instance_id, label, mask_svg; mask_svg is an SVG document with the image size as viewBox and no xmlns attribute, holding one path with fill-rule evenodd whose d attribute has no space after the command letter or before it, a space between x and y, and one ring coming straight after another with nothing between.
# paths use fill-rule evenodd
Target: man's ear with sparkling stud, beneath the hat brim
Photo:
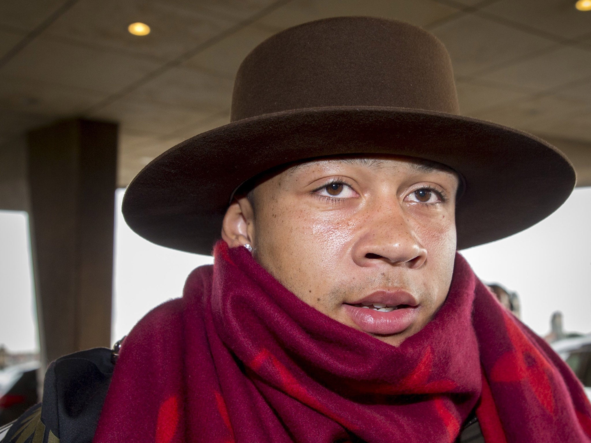
<instances>
[{"instance_id":1,"label":"man's ear with sparkling stud, beneath the hat brim","mask_svg":"<svg viewBox=\"0 0 591 443\"><path fill-rule=\"evenodd\" d=\"M229 247L246 244L254 247L254 233L254 211L251 202L246 197L234 200L223 217L222 239Z\"/></svg>"}]
</instances>

